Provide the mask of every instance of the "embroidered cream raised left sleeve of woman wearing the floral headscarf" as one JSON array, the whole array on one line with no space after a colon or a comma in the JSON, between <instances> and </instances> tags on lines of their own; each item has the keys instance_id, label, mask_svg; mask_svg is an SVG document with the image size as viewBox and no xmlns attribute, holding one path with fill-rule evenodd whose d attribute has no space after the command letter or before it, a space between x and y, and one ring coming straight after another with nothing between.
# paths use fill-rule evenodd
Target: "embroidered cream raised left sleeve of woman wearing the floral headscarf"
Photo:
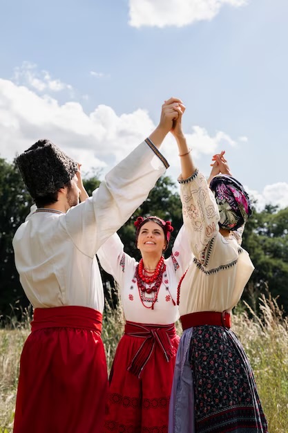
<instances>
[{"instance_id":1,"label":"embroidered cream raised left sleeve of woman wearing the floral headscarf","mask_svg":"<svg viewBox=\"0 0 288 433\"><path fill-rule=\"evenodd\" d=\"M219 212L213 193L198 169L189 179L179 179L184 225L190 248L200 264L207 264L207 252L219 227Z\"/></svg>"}]
</instances>

